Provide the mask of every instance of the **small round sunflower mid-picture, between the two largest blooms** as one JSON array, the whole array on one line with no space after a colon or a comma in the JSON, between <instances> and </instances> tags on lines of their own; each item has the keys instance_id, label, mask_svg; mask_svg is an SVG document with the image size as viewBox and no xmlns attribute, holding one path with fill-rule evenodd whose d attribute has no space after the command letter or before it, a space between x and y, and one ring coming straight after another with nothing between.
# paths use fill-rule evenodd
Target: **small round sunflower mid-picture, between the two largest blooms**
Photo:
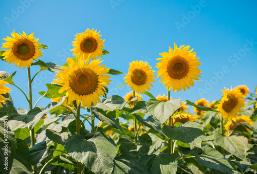
<instances>
[{"instance_id":1,"label":"small round sunflower mid-picture, between the two largest blooms","mask_svg":"<svg viewBox=\"0 0 257 174\"><path fill-rule=\"evenodd\" d=\"M133 91L138 93L150 90L150 86L153 87L151 82L154 82L154 72L151 70L151 66L148 62L132 61L130 62L130 68L125 76L125 82L132 88Z\"/></svg>"}]
</instances>

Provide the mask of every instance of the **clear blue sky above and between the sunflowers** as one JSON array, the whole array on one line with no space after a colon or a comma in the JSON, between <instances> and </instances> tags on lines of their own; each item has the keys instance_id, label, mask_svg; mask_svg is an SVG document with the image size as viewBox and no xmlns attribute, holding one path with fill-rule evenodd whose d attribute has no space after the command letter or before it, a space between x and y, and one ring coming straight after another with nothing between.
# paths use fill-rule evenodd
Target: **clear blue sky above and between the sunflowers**
<instances>
[{"instance_id":1,"label":"clear blue sky above and between the sunflowers","mask_svg":"<svg viewBox=\"0 0 257 174\"><path fill-rule=\"evenodd\" d=\"M172 98L193 102L206 98L211 102L221 98L224 87L245 84L254 92L257 86L255 1L21 0L0 1L0 6L0 38L11 36L13 29L34 32L40 43L49 46L39 58L45 62L64 64L67 57L72 57L69 50L73 48L74 35L95 28L111 53L103 56L103 64L124 73L129 62L137 59L148 61L157 72L159 53L168 52L174 42L194 48L202 62L202 81L196 81L186 92L172 92ZM36 66L31 69L32 73L39 70ZM13 81L28 92L26 69L1 61L0 71L17 71ZM47 90L44 84L52 82L53 76L54 73L44 71L35 78L33 104L40 97L38 92ZM130 92L127 86L115 90L124 82L123 78L124 75L112 75L109 96ZM153 83L151 93L167 95L159 79ZM12 89L14 105L28 108L22 93L13 85L8 87ZM46 106L49 102L43 99L38 105Z\"/></svg>"}]
</instances>

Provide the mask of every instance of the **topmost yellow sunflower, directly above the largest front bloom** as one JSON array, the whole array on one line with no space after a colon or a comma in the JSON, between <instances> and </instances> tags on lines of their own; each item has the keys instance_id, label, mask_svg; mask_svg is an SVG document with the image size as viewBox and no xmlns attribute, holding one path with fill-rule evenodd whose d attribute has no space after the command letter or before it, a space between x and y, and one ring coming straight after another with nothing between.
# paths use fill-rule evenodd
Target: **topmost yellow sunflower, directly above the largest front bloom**
<instances>
[{"instance_id":1,"label":"topmost yellow sunflower, directly above the largest front bloom","mask_svg":"<svg viewBox=\"0 0 257 174\"><path fill-rule=\"evenodd\" d=\"M85 58L91 58L95 60L96 57L102 57L103 55L103 42L104 40L100 39L102 35L99 35L100 32L97 33L97 30L94 29L89 30L87 29L85 33L79 33L75 35L75 41L72 41L74 49L71 49L73 55L82 56L85 55ZM91 54L90 56L88 56Z\"/></svg>"}]
</instances>

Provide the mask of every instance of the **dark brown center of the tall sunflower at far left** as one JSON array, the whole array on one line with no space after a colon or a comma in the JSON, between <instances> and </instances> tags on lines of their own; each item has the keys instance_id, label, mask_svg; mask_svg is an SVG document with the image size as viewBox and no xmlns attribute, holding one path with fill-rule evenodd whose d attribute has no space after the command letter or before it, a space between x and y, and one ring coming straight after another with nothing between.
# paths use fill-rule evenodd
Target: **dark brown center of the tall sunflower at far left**
<instances>
[{"instance_id":1,"label":"dark brown center of the tall sunflower at far left","mask_svg":"<svg viewBox=\"0 0 257 174\"><path fill-rule=\"evenodd\" d=\"M12 51L17 58L21 60L28 60L34 56L35 46L29 39L19 39L14 42Z\"/></svg>"}]
</instances>

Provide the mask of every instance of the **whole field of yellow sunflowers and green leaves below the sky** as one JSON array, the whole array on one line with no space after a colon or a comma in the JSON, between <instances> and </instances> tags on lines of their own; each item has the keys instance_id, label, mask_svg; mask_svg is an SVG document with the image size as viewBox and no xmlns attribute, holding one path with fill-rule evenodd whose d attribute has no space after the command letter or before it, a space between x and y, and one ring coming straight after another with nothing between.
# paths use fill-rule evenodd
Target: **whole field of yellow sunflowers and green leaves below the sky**
<instances>
[{"instance_id":1,"label":"whole field of yellow sunflowers and green leaves below the sky","mask_svg":"<svg viewBox=\"0 0 257 174\"><path fill-rule=\"evenodd\" d=\"M1 64L27 69L28 93L13 80L16 72L0 72L1 173L256 173L257 89L231 86L212 102L173 98L201 78L190 46L174 43L160 53L157 72L143 60L120 72L105 68L109 52L94 29L75 35L64 64L43 61L48 47L34 33L13 31L3 40ZM35 99L31 86L42 71L56 75ZM112 76L123 73L131 91L107 97ZM167 91L153 96L158 77ZM29 111L15 107L14 88ZM39 106L43 98L49 104Z\"/></svg>"}]
</instances>

